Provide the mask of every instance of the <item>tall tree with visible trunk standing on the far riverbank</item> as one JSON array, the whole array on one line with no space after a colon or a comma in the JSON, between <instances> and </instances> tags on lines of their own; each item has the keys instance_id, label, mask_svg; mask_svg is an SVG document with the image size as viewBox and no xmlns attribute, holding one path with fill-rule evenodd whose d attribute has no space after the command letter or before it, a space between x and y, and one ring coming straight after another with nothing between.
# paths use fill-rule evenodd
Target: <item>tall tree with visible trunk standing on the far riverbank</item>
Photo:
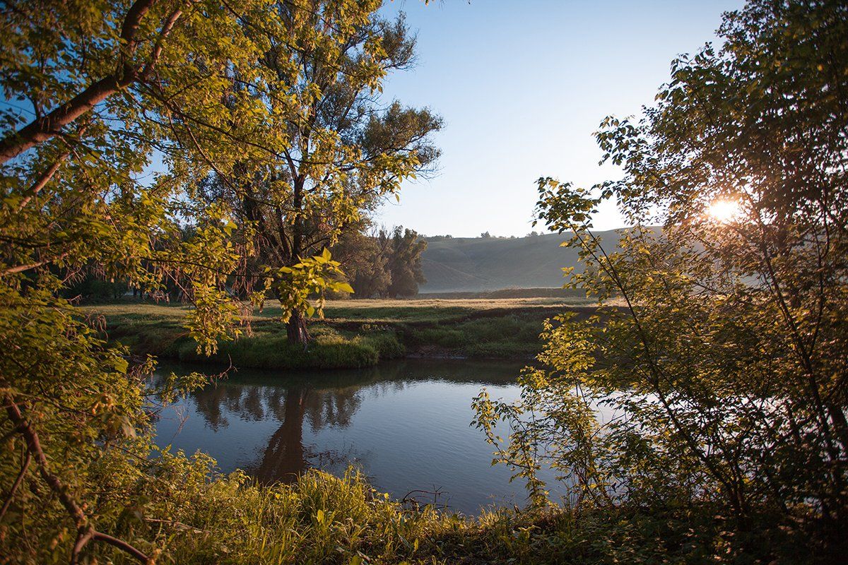
<instances>
[{"instance_id":1,"label":"tall tree with visible trunk standing on the far riverbank","mask_svg":"<svg viewBox=\"0 0 848 565\"><path fill-rule=\"evenodd\" d=\"M255 231L277 298L286 296L280 269L334 245L363 211L432 166L438 150L431 134L442 125L427 108L380 103L384 77L409 67L415 54L402 15L378 17L377 0L355 9L326 0L309 5L276 3L280 25L297 33L271 43L264 84L247 87L271 108L285 147L274 160L240 163L237 182L215 180L207 197L223 197L238 224ZM234 88L241 91L240 81ZM289 341L308 343L304 308L284 310Z\"/></svg>"}]
</instances>

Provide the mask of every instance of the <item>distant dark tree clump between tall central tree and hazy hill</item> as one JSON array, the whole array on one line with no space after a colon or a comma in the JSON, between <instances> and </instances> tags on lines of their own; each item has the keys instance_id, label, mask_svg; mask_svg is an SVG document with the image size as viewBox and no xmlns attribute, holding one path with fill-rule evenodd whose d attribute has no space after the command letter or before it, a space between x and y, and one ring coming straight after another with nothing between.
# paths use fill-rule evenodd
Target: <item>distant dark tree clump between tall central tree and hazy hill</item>
<instances>
[{"instance_id":1,"label":"distant dark tree clump between tall central tree and hazy hill","mask_svg":"<svg viewBox=\"0 0 848 565\"><path fill-rule=\"evenodd\" d=\"M351 230L333 247L332 255L356 298L407 298L427 282L421 271L421 253L427 241L415 230L395 226L377 233Z\"/></svg>"}]
</instances>

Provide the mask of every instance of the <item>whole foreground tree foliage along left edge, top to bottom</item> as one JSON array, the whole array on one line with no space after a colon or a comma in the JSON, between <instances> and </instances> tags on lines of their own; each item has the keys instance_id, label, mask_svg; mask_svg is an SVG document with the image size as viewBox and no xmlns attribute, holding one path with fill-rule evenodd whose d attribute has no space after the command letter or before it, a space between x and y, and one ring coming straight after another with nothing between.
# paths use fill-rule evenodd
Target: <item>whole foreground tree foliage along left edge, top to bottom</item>
<instances>
[{"instance_id":1,"label":"whole foreground tree foliage along left edge, top to bottom","mask_svg":"<svg viewBox=\"0 0 848 565\"><path fill-rule=\"evenodd\" d=\"M0 554L75 563L96 542L147 562L159 548L138 529L108 532L151 503L139 485L185 463L149 458L150 402L205 378L166 379L148 396L153 363L131 365L102 320L60 296L93 265L145 291L180 285L198 349L240 333L243 304L226 283L253 254L251 234L233 238L230 210L194 206L182 189L213 171L232 182L245 159L287 147L271 108L228 87L265 84L271 44L306 32L265 0L6 2L2 14ZM158 158L167 173L145 178ZM277 291L305 310L338 263L322 254L286 269Z\"/></svg>"}]
</instances>

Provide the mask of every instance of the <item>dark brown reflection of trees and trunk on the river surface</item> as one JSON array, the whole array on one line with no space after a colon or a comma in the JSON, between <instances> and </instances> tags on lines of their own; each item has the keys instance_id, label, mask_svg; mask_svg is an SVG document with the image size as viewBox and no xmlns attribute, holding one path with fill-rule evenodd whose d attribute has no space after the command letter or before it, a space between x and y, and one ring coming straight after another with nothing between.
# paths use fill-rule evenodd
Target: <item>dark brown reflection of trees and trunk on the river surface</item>
<instances>
[{"instance_id":1,"label":"dark brown reflection of trees and trunk on the river surface","mask_svg":"<svg viewBox=\"0 0 848 565\"><path fill-rule=\"evenodd\" d=\"M170 369L176 372L197 370ZM230 419L279 423L253 461L241 466L263 483L290 482L307 468L338 472L350 462L364 460L364 455L357 453L354 446L319 448L310 440L304 440L304 426L308 421L313 436L321 429L348 428L360 409L362 391L366 387L369 395L392 396L413 381L438 379L483 385L510 382L517 371L517 366L505 369L502 362L492 363L491 368L485 362L476 362L473 370L462 371L458 370L456 361L422 360L386 363L360 370L309 373L240 370L215 385L194 392L187 400L214 434L237 423ZM385 424L391 426L393 422ZM257 427L258 433L262 433L260 429L267 428ZM305 435L310 436L309 433Z\"/></svg>"}]
</instances>

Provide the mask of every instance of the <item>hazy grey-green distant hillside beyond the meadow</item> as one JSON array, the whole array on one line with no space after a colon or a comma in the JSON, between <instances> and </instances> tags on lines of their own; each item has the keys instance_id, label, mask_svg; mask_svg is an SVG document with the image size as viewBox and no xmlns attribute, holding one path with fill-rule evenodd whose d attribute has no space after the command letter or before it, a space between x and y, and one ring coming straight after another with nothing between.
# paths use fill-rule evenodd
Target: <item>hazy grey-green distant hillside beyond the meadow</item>
<instances>
[{"instance_id":1,"label":"hazy grey-green distant hillside beyond the meadow","mask_svg":"<svg viewBox=\"0 0 848 565\"><path fill-rule=\"evenodd\" d=\"M598 232L616 241L613 231ZM561 247L567 235L515 239L496 237L427 238L421 266L427 283L421 292L478 292L505 288L561 286L563 267L577 267L577 250Z\"/></svg>"}]
</instances>

